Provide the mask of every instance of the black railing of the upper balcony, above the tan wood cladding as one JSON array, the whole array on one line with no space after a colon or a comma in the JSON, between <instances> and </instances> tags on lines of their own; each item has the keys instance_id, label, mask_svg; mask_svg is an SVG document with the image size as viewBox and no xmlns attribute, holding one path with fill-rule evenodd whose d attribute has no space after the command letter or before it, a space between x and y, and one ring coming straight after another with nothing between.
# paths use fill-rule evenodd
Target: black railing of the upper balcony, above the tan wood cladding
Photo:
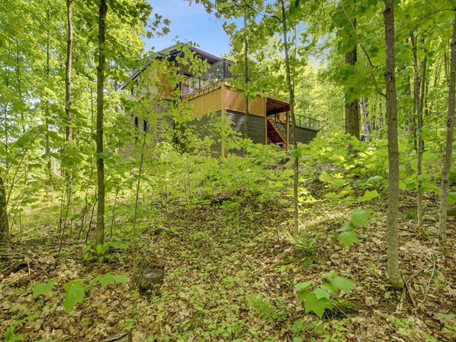
<instances>
[{"instance_id":1,"label":"black railing of the upper balcony, above the tan wood cladding","mask_svg":"<svg viewBox=\"0 0 456 342\"><path fill-rule=\"evenodd\" d=\"M209 69L207 69L207 71L201 76L192 76L187 78L187 80L182 82L180 85L182 96L194 93L195 91L201 90L211 84L231 77L229 68L232 64L232 61L222 58L220 61L212 64L212 66L209 66Z\"/></svg>"}]
</instances>

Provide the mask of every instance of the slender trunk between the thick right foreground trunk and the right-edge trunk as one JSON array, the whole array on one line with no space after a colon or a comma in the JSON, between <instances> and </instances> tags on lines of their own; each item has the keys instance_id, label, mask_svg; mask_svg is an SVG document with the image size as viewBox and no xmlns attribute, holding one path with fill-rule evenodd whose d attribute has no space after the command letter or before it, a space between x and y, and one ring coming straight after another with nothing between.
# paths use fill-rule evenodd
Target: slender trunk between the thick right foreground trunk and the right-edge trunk
<instances>
[{"instance_id":1,"label":"slender trunk between the thick right foreground trunk and the right-edge trunk","mask_svg":"<svg viewBox=\"0 0 456 342\"><path fill-rule=\"evenodd\" d=\"M418 187L418 195L417 195L417 225L418 225L418 233L422 234L423 229L423 189L421 189L421 181L420 177L423 173L422 165L423 165L423 99L425 96L425 76L426 76L426 59L423 60L423 74L421 75L421 98L418 100L418 132L417 132L417 187Z\"/></svg>"}]
</instances>

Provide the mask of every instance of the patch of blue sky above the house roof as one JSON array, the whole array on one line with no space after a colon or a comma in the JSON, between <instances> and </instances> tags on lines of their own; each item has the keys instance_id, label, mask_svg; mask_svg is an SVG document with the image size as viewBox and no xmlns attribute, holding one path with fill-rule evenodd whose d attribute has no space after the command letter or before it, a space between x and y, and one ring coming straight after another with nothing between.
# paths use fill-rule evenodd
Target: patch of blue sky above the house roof
<instances>
[{"instance_id":1,"label":"patch of blue sky above the house roof","mask_svg":"<svg viewBox=\"0 0 456 342\"><path fill-rule=\"evenodd\" d=\"M155 51L179 41L192 41L199 48L215 56L229 53L229 37L223 31L223 19L207 14L201 4L185 0L148 0L154 13L170 19L170 32L166 36L144 38L145 48ZM177 37L177 38L176 38Z\"/></svg>"}]
</instances>

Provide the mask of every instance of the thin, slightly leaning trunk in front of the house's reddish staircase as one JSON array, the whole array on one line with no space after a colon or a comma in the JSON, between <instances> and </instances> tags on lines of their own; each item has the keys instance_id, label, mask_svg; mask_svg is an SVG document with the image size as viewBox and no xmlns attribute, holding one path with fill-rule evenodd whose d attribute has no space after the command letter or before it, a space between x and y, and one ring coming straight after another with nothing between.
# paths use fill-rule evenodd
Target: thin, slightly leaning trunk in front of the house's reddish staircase
<instances>
[{"instance_id":1,"label":"thin, slightly leaning trunk in front of the house's reddish staircase","mask_svg":"<svg viewBox=\"0 0 456 342\"><path fill-rule=\"evenodd\" d=\"M293 175L293 195L294 195L294 232L299 229L299 206L298 206L298 179L299 179L299 153L298 142L296 141L296 118L294 116L294 85L291 83L290 59L289 59L289 46L286 36L286 14L284 0L280 0L282 12L282 27L284 36L284 52L285 52L285 70L286 70L286 83L288 85L289 98L290 98L290 115L291 115L291 135L293 137L294 147L294 175Z\"/></svg>"}]
</instances>

